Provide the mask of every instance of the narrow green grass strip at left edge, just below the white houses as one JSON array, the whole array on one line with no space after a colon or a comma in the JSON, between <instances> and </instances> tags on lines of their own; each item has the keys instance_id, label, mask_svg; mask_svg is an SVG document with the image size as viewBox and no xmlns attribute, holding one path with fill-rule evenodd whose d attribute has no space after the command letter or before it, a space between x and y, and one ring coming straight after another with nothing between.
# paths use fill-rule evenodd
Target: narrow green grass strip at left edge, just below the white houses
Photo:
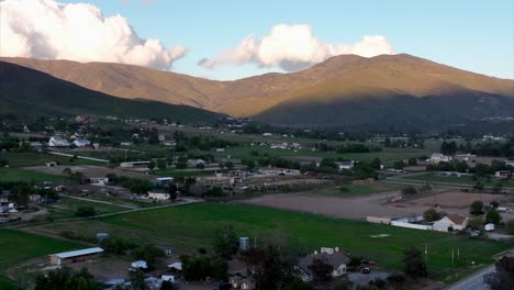
<instances>
[{"instance_id":1,"label":"narrow green grass strip at left edge, just below the white houses","mask_svg":"<svg viewBox=\"0 0 514 290\"><path fill-rule=\"evenodd\" d=\"M44 166L48 161L57 161L62 165L102 165L85 159L70 160L69 157L57 156L52 154L38 152L2 152L0 153L1 159L7 159L10 167L29 167L29 166Z\"/></svg>"}]
</instances>

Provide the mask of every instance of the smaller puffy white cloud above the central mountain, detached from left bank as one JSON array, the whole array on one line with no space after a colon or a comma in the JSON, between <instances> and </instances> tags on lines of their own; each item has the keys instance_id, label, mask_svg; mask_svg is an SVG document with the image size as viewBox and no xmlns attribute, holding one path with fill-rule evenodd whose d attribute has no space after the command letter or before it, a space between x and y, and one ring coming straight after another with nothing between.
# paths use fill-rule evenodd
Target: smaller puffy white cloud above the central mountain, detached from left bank
<instances>
[{"instance_id":1,"label":"smaller puffy white cloud above the central mountain, detached from left bank","mask_svg":"<svg viewBox=\"0 0 514 290\"><path fill-rule=\"evenodd\" d=\"M235 48L221 53L217 57L199 62L205 68L219 65L243 65L255 63L261 67L280 67L286 71L298 71L332 56L355 54L372 57L394 54L394 49L382 35L365 35L355 44L329 44L317 38L310 25L280 24L260 40L249 35Z\"/></svg>"}]
</instances>

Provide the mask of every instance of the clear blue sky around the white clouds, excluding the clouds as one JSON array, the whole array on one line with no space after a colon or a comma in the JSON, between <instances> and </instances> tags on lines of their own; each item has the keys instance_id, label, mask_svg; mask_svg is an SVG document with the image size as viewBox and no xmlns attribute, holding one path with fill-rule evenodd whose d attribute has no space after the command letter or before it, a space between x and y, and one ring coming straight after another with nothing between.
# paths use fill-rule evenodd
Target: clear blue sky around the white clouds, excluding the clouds
<instances>
[{"instance_id":1,"label":"clear blue sky around the white clouds, excluding the clouds","mask_svg":"<svg viewBox=\"0 0 514 290\"><path fill-rule=\"evenodd\" d=\"M235 79L279 67L255 64L198 66L204 57L267 35L277 24L309 24L326 43L356 43L384 35L396 53L490 76L514 78L514 1L236 1L83 0L104 16L120 13L143 38L190 51L172 70L212 79ZM82 2L83 2L82 1ZM63 1L76 2L76 1Z\"/></svg>"}]
</instances>

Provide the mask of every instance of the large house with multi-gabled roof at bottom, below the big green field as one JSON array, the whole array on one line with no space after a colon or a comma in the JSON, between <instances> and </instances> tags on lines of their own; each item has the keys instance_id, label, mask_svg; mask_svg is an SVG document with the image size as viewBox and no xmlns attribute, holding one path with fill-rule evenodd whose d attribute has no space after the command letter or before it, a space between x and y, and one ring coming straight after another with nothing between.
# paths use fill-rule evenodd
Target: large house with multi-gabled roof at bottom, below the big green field
<instances>
[{"instance_id":1,"label":"large house with multi-gabled roof at bottom, below the big green field","mask_svg":"<svg viewBox=\"0 0 514 290\"><path fill-rule=\"evenodd\" d=\"M334 268L332 276L339 277L346 274L347 264L350 261L350 258L339 249L339 247L329 248L329 247L322 247L320 253L314 250L314 254L305 256L299 260L298 268L300 270L300 275L303 281L311 281L312 280L312 272L309 269L309 266L315 259L322 259L325 263L332 265Z\"/></svg>"}]
</instances>

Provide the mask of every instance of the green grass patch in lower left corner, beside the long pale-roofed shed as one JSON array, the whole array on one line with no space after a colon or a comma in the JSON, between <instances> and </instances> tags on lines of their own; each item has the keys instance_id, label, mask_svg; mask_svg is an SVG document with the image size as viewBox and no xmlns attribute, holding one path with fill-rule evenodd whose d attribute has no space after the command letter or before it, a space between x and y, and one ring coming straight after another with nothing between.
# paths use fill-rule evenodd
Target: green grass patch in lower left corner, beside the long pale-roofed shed
<instances>
[{"instance_id":1,"label":"green grass patch in lower left corner, beside the long pale-roofed shed","mask_svg":"<svg viewBox=\"0 0 514 290\"><path fill-rule=\"evenodd\" d=\"M5 277L10 267L26 259L81 247L78 243L0 228L0 289L19 289Z\"/></svg>"}]
</instances>

